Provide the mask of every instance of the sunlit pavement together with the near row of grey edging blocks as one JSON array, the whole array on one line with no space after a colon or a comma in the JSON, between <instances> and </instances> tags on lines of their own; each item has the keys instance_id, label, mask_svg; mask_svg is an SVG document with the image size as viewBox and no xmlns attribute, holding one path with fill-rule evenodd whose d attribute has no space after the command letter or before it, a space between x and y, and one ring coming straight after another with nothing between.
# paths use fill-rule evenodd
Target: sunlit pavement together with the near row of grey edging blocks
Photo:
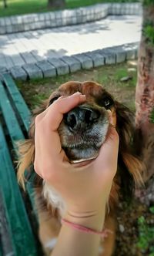
<instances>
[{"instance_id":1,"label":"sunlit pavement together with the near row of grey edging blocks","mask_svg":"<svg viewBox=\"0 0 154 256\"><path fill-rule=\"evenodd\" d=\"M81 25L0 35L0 73L25 80L136 59L141 27L140 15L109 15Z\"/></svg>"}]
</instances>

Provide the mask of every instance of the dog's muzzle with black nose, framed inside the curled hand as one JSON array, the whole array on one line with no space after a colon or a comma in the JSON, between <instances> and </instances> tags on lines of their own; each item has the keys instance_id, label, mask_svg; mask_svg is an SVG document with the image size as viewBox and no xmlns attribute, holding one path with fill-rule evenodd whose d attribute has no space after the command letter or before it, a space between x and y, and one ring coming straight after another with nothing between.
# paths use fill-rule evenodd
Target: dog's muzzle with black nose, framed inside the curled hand
<instances>
[{"instance_id":1,"label":"dog's muzzle with black nose, framed inside the curled hand","mask_svg":"<svg viewBox=\"0 0 154 256\"><path fill-rule=\"evenodd\" d=\"M109 117L104 108L81 105L66 113L59 135L69 160L77 163L97 157L108 127Z\"/></svg>"}]
</instances>

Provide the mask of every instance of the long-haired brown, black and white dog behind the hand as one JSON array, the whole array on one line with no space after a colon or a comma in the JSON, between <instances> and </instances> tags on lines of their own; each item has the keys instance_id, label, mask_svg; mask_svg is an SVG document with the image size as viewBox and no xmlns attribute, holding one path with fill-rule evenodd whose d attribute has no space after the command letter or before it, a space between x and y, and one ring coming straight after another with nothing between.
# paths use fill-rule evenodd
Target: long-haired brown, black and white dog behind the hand
<instances>
[{"instance_id":1,"label":"long-haired brown, black and white dog behind the hand","mask_svg":"<svg viewBox=\"0 0 154 256\"><path fill-rule=\"evenodd\" d=\"M115 246L116 207L120 200L132 197L133 188L142 184L142 162L133 153L133 114L126 106L116 101L101 85L86 81L70 81L62 84L43 106L35 111L29 130L29 139L19 146L18 182L25 186L25 169L32 172L35 158L35 116L42 113L60 96L70 96L75 92L85 94L86 102L76 106L63 117L59 126L62 148L70 162L92 159L98 156L109 130L108 109L112 112L115 129L119 133L118 168L109 195L109 209L105 214L105 228L112 231L100 244L100 254L111 256ZM111 156L112 157L112 156ZM35 204L39 216L39 239L45 254L51 254L61 228L65 202L35 174Z\"/></svg>"}]
</instances>

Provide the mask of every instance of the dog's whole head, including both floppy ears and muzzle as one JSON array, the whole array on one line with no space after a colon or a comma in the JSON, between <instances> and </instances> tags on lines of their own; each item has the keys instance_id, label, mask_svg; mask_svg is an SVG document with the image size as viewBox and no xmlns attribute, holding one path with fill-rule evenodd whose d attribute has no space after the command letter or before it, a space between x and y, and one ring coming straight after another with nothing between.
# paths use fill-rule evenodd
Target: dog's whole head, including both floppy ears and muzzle
<instances>
[{"instance_id":1,"label":"dog's whole head, including both floppy ears and muzzle","mask_svg":"<svg viewBox=\"0 0 154 256\"><path fill-rule=\"evenodd\" d=\"M110 109L114 125L119 133L116 184L123 188L123 194L127 196L132 190L133 180L136 184L140 184L142 180L142 164L132 153L134 122L133 115L126 106L114 100L112 95L98 83L70 81L52 93L45 105L35 114L41 113L60 96L70 96L75 92L85 94L86 102L64 115L59 126L62 148L72 162L97 157L109 129L107 110ZM35 121L32 123L29 134L30 139L20 147L18 180L22 184L24 170L34 161Z\"/></svg>"}]
</instances>

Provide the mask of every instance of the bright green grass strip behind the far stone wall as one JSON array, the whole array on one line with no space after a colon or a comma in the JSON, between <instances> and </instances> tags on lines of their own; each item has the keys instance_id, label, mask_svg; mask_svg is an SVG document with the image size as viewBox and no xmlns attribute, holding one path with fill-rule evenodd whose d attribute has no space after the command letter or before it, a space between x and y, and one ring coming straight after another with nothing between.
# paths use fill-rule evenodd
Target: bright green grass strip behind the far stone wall
<instances>
[{"instance_id":1,"label":"bright green grass strip behind the far stone wall","mask_svg":"<svg viewBox=\"0 0 154 256\"><path fill-rule=\"evenodd\" d=\"M78 8L100 2L137 2L138 0L65 0L65 8ZM0 17L22 15L33 12L48 12L47 0L7 0L8 8L4 8L0 0Z\"/></svg>"}]
</instances>

